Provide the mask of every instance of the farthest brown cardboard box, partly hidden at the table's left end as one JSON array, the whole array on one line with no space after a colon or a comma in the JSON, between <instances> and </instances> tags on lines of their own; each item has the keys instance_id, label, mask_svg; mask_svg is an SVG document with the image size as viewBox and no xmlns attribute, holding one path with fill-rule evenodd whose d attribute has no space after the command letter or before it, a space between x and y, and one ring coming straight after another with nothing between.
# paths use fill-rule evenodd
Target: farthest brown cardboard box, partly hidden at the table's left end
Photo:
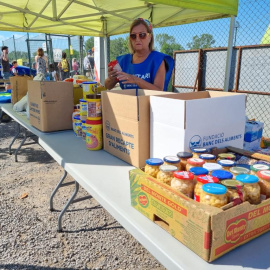
<instances>
[{"instance_id":1,"label":"farthest brown cardboard box, partly hidden at the table's left end","mask_svg":"<svg viewBox=\"0 0 270 270\"><path fill-rule=\"evenodd\" d=\"M11 103L15 104L20 101L28 91L27 81L33 80L32 77L29 76L13 76L9 78L11 83Z\"/></svg>"}]
</instances>

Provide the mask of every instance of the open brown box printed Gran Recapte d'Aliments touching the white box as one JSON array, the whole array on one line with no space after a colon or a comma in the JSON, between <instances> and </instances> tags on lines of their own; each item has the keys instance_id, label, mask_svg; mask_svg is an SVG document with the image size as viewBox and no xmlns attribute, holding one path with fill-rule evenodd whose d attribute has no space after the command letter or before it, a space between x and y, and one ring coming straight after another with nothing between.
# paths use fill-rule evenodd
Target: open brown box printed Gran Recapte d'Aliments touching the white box
<instances>
[{"instance_id":1,"label":"open brown box printed Gran Recapte d'Aliments touching the white box","mask_svg":"<svg viewBox=\"0 0 270 270\"><path fill-rule=\"evenodd\" d=\"M150 95L175 95L152 90L102 91L104 149L138 167L150 157Z\"/></svg>"}]
</instances>

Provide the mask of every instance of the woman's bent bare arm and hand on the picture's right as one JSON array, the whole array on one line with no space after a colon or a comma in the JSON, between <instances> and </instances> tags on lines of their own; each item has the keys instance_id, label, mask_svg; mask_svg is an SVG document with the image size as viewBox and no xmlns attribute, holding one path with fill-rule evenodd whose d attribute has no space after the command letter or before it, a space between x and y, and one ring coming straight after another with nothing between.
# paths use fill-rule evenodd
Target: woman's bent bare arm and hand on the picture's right
<instances>
[{"instance_id":1,"label":"woman's bent bare arm and hand on the picture's right","mask_svg":"<svg viewBox=\"0 0 270 270\"><path fill-rule=\"evenodd\" d=\"M158 68L158 71L156 73L154 83L149 83L141 78L138 78L137 76L125 73L125 72L117 72L117 78L122 81L123 84L137 84L139 88L141 89L149 89L149 90L164 90L164 83L165 83L165 74L166 74L166 68L165 68L165 62L162 61L161 65Z\"/></svg>"}]
</instances>

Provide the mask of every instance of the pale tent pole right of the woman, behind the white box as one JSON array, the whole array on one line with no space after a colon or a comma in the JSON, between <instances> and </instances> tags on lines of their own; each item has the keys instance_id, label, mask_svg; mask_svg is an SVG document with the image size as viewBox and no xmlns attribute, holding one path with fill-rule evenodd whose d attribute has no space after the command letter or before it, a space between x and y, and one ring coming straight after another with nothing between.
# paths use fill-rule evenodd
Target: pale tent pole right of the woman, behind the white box
<instances>
[{"instance_id":1,"label":"pale tent pole right of the woman, behind the white box","mask_svg":"<svg viewBox=\"0 0 270 270\"><path fill-rule=\"evenodd\" d=\"M231 73L230 71L231 71L232 52L233 52L234 28L235 28L235 16L231 16L228 49L227 49L226 70L225 70L225 80L224 80L224 91L226 91L226 92L229 91L230 73Z\"/></svg>"}]
</instances>

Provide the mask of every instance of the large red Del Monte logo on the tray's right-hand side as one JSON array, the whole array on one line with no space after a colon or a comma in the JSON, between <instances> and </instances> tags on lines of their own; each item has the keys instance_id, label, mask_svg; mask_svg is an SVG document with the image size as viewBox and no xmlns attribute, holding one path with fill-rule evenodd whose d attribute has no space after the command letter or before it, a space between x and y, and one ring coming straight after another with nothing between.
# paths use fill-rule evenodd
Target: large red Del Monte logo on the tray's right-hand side
<instances>
[{"instance_id":1,"label":"large red Del Monte logo on the tray's right-hand side","mask_svg":"<svg viewBox=\"0 0 270 270\"><path fill-rule=\"evenodd\" d=\"M236 243L240 237L245 233L247 229L247 221L245 219L240 219L227 227L225 242L226 243Z\"/></svg>"}]
</instances>

